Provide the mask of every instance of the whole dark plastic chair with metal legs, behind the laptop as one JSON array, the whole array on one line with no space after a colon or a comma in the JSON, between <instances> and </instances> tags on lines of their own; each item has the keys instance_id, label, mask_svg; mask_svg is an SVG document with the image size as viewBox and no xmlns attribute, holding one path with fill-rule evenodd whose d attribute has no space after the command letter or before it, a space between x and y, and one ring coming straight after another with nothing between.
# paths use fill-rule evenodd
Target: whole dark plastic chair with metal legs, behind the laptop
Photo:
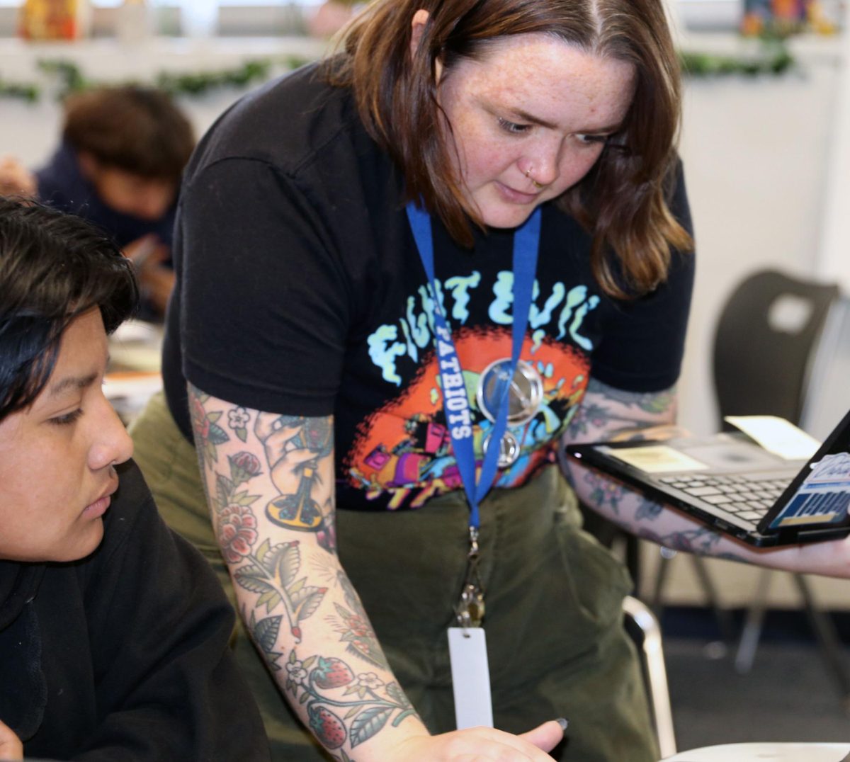
<instances>
[{"instance_id":1,"label":"whole dark plastic chair with metal legs, behind the laptop","mask_svg":"<svg viewBox=\"0 0 850 762\"><path fill-rule=\"evenodd\" d=\"M798 426L809 380L837 285L800 279L775 270L751 274L734 290L717 323L714 385L721 425L726 415L779 415ZM735 667L752 665L761 635L772 572L762 570L757 594L745 619ZM850 708L850 678L842 660L835 625L819 610L807 580L794 574L803 607L845 709Z\"/></svg>"}]
</instances>

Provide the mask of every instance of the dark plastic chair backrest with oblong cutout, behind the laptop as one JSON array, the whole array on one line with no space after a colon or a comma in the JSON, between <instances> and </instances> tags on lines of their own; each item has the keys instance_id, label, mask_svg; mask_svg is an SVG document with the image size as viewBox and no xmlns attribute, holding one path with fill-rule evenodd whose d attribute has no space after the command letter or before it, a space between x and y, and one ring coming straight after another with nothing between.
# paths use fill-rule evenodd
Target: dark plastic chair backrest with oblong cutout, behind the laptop
<instances>
[{"instance_id":1,"label":"dark plastic chair backrest with oblong cutout, behind the laptop","mask_svg":"<svg viewBox=\"0 0 850 762\"><path fill-rule=\"evenodd\" d=\"M839 289L763 270L729 297L714 339L714 387L724 415L779 415L799 425L813 353Z\"/></svg>"}]
</instances>

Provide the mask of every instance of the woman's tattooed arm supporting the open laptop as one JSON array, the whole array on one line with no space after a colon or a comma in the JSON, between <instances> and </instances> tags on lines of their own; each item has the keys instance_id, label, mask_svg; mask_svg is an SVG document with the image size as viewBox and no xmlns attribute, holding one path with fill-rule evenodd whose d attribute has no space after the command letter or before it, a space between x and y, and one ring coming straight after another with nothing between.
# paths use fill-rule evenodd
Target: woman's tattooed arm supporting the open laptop
<instances>
[{"instance_id":1,"label":"woman's tattooed arm supporting the open laptop","mask_svg":"<svg viewBox=\"0 0 850 762\"><path fill-rule=\"evenodd\" d=\"M675 389L623 392L591 379L587 393L564 435L564 443L623 438L662 438L679 430ZM648 500L613 477L566 462L564 468L579 499L626 531L676 550L795 572L850 576L850 539L781 549L756 549L717 533L666 505Z\"/></svg>"}]
</instances>

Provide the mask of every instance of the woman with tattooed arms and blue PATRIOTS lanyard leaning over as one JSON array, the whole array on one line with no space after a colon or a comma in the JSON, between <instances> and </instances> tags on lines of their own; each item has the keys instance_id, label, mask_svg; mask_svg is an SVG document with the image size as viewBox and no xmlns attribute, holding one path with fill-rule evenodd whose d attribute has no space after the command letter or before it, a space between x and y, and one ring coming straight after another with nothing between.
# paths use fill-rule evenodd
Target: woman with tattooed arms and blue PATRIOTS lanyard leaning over
<instances>
[{"instance_id":1,"label":"woman with tattooed arms and blue PATRIOTS lanyard leaning over","mask_svg":"<svg viewBox=\"0 0 850 762\"><path fill-rule=\"evenodd\" d=\"M658 0L377 0L195 151L167 409L134 437L172 525L229 567L280 759L324 754L292 714L358 762L548 759L561 730L541 723L564 716L559 759L657 759L629 581L575 495L745 551L589 472L570 488L556 450L673 419L694 273L679 108ZM476 465L496 473L470 573ZM450 732L467 581L501 731Z\"/></svg>"}]
</instances>

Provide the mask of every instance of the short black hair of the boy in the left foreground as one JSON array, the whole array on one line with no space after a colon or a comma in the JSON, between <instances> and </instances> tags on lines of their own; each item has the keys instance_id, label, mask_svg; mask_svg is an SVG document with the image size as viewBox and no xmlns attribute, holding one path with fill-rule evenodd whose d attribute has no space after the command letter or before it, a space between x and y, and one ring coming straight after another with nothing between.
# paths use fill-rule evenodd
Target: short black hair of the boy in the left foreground
<instances>
[{"instance_id":1,"label":"short black hair of the boy in the left foreground","mask_svg":"<svg viewBox=\"0 0 850 762\"><path fill-rule=\"evenodd\" d=\"M77 315L99 308L111 333L138 301L132 263L99 229L0 198L0 421L42 392Z\"/></svg>"}]
</instances>

